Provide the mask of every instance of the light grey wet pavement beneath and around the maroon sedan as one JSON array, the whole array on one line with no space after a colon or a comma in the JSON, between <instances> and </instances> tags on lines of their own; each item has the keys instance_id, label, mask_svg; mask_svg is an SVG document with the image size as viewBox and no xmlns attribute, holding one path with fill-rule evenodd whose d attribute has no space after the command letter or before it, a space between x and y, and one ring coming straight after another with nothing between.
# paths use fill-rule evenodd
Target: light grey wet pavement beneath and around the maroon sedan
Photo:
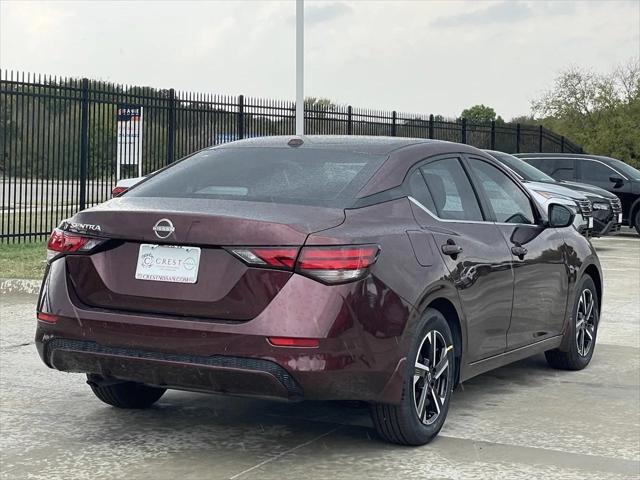
<instances>
[{"instance_id":1,"label":"light grey wet pavement beneath and around the maroon sedan","mask_svg":"<svg viewBox=\"0 0 640 480\"><path fill-rule=\"evenodd\" d=\"M0 296L2 479L637 479L640 239L596 240L605 300L591 365L536 356L466 382L440 436L388 445L367 411L168 392L147 411L98 401L47 369L35 297Z\"/></svg>"}]
</instances>

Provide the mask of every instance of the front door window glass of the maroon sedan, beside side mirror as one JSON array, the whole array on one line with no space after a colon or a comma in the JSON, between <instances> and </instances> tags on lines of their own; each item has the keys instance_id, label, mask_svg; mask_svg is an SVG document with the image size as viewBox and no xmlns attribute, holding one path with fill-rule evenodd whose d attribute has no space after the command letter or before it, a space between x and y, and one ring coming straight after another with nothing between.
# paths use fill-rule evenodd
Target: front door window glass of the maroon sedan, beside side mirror
<instances>
[{"instance_id":1,"label":"front door window glass of the maroon sedan, beside side mirror","mask_svg":"<svg viewBox=\"0 0 640 480\"><path fill-rule=\"evenodd\" d=\"M504 172L481 160L472 160L471 168L480 180L496 221L534 223L529 197Z\"/></svg>"}]
</instances>

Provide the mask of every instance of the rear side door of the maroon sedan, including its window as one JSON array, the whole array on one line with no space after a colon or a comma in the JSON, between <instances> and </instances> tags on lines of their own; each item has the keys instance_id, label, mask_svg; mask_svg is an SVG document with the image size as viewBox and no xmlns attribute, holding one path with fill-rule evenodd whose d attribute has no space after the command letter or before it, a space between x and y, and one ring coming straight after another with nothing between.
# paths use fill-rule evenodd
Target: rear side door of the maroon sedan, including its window
<instances>
[{"instance_id":1,"label":"rear side door of the maroon sedan, including its window","mask_svg":"<svg viewBox=\"0 0 640 480\"><path fill-rule=\"evenodd\" d=\"M457 289L467 359L503 353L511 321L511 254L496 225L485 221L461 158L430 159L410 173L408 182L415 218L432 233L450 272L445 280Z\"/></svg>"}]
</instances>

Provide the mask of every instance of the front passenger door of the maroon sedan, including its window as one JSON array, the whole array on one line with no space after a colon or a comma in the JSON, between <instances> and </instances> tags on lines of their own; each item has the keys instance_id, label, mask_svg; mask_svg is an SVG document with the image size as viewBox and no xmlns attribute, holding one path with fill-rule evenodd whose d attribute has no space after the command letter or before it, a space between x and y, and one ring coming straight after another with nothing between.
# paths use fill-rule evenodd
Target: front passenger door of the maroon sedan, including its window
<instances>
[{"instance_id":1,"label":"front passenger door of the maroon sedan, including its window","mask_svg":"<svg viewBox=\"0 0 640 480\"><path fill-rule=\"evenodd\" d=\"M534 203L515 178L486 159L469 156L466 161L511 250L514 292L507 350L559 335L569 282L563 229L542 225Z\"/></svg>"}]
</instances>

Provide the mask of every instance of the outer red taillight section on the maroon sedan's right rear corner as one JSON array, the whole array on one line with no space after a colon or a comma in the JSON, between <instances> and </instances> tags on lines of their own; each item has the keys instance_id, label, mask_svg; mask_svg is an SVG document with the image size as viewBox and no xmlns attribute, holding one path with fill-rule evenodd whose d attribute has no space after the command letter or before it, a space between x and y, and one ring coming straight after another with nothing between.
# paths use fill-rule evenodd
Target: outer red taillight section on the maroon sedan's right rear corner
<instances>
[{"instance_id":1,"label":"outer red taillight section on the maroon sedan's right rear corner","mask_svg":"<svg viewBox=\"0 0 640 480\"><path fill-rule=\"evenodd\" d=\"M369 273L379 251L377 245L304 247L296 271L325 283L351 282Z\"/></svg>"}]
</instances>

